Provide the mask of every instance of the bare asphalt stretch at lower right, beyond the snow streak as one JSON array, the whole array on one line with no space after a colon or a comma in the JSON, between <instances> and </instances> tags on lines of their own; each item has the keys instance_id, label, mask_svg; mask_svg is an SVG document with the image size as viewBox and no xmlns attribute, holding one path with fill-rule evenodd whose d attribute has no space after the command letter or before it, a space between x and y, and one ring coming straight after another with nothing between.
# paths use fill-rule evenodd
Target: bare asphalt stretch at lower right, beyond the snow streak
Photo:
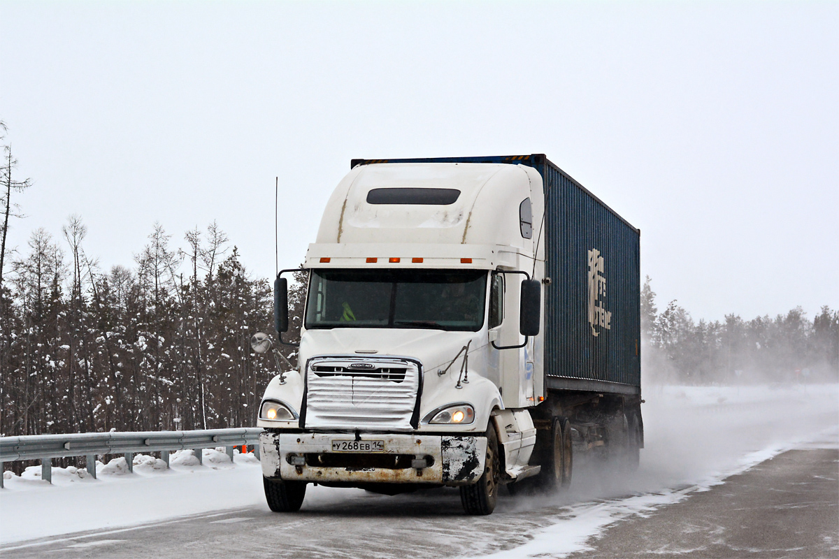
<instances>
[{"instance_id":1,"label":"bare asphalt stretch at lower right, beyond the snow streak","mask_svg":"<svg viewBox=\"0 0 839 559\"><path fill-rule=\"evenodd\" d=\"M807 448L620 522L569 559L839 556L839 449Z\"/></svg>"}]
</instances>

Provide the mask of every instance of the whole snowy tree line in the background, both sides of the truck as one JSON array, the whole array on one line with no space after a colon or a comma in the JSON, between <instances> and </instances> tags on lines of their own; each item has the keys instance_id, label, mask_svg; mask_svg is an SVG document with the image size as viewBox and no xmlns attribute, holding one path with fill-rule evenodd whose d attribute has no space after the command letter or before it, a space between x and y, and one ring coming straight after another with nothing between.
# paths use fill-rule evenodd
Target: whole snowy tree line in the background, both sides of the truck
<instances>
[{"instance_id":1,"label":"whole snowy tree line in the background, both sides of the truck","mask_svg":"<svg viewBox=\"0 0 839 559\"><path fill-rule=\"evenodd\" d=\"M76 216L62 241L35 230L0 283L0 432L154 431L252 426L274 360L268 280L253 278L213 223L172 246L161 225L133 267L102 272ZM297 339L305 277L291 288ZM839 313L695 322L642 289L644 375L689 384L839 380ZM294 348L280 346L296 365ZM795 371L800 371L796 377Z\"/></svg>"}]
</instances>

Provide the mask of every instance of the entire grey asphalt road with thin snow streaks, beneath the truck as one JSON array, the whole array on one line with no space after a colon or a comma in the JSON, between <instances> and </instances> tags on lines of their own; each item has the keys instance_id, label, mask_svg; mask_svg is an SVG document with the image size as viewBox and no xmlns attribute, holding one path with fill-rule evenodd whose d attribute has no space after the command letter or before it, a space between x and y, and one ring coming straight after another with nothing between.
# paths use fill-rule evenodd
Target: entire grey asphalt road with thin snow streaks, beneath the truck
<instances>
[{"instance_id":1,"label":"entire grey asphalt road with thin snow streaks, beneath the truck","mask_svg":"<svg viewBox=\"0 0 839 559\"><path fill-rule=\"evenodd\" d=\"M576 481L591 482L596 475L584 469ZM541 536L543 546L548 538L546 556L571 559L839 557L836 448L782 453L724 484L685 495L679 503L613 522L599 536L584 541L587 551L571 555L562 551L565 546L560 541L550 541L550 530L576 514L573 495L554 502L506 497L493 515L469 517L462 514L458 494L451 489L395 497L362 494L343 500L307 497L304 509L293 515L248 507L18 542L0 547L0 555L4 559L236 555L403 559L493 553L516 557L534 552L534 534L547 530L549 536Z\"/></svg>"}]
</instances>

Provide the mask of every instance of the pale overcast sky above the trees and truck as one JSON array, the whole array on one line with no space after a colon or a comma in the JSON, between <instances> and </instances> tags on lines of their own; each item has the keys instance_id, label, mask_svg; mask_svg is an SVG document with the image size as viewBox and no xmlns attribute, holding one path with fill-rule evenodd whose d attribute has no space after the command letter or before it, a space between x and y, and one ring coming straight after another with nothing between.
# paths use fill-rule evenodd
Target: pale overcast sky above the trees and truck
<instances>
[{"instance_id":1,"label":"pale overcast sky above the trees and truck","mask_svg":"<svg viewBox=\"0 0 839 559\"><path fill-rule=\"evenodd\" d=\"M659 308L839 308L839 3L0 2L31 232L102 267L216 220L258 277L351 158L546 153L641 230Z\"/></svg>"}]
</instances>

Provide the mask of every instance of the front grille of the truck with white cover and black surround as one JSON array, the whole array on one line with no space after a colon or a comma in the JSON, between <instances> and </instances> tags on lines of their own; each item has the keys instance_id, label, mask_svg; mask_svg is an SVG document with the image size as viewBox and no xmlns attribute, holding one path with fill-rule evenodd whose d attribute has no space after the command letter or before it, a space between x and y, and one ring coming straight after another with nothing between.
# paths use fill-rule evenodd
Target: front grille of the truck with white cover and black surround
<instances>
[{"instance_id":1,"label":"front grille of the truck with white cover and black surround","mask_svg":"<svg viewBox=\"0 0 839 559\"><path fill-rule=\"evenodd\" d=\"M304 427L412 431L419 388L420 367L413 361L311 360L306 370Z\"/></svg>"}]
</instances>

